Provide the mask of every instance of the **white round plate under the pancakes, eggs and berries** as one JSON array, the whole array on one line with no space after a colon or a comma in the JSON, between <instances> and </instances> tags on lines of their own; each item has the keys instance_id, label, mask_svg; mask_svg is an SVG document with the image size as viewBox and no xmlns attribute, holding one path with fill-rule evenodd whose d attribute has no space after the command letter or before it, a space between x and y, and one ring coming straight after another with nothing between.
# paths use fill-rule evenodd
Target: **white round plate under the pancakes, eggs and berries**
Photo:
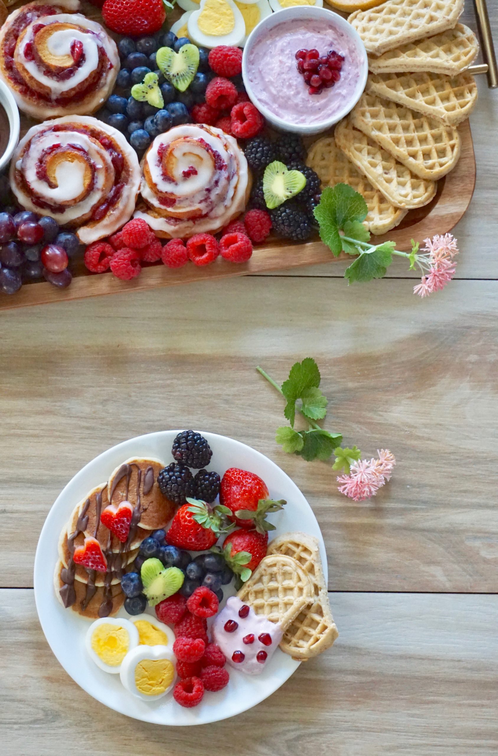
<instances>
[{"instance_id":1,"label":"white round plate under the pancakes, eggs and berries","mask_svg":"<svg viewBox=\"0 0 498 756\"><path fill-rule=\"evenodd\" d=\"M195 708L182 708L171 695L156 702L144 702L132 696L121 684L119 674L107 674L95 665L85 651L85 632L88 621L63 609L54 593L54 567L57 561L57 541L63 525L79 501L95 485L106 480L119 464L129 457L156 457L165 464L172 461L171 448L178 431L162 431L130 438L104 451L76 473L60 493L40 534L35 557L35 600L40 623L48 643L60 664L82 689L102 704L128 717L156 724L188 725L217 722L240 714L271 696L291 676L298 666L280 649L274 653L268 668L260 675L249 676L228 668L230 683L220 692L206 692ZM255 472L264 480L273 499L285 499L283 511L271 515L277 530L272 536L287 531L305 531L320 541L320 553L326 575L326 553L317 520L305 497L286 473L258 451L214 433L204 433L212 448L212 463L223 475L229 467ZM230 590L227 590L229 589ZM224 596L234 593L233 584L224 586ZM153 612L153 609L147 609ZM118 616L128 617L124 609Z\"/></svg>"}]
</instances>

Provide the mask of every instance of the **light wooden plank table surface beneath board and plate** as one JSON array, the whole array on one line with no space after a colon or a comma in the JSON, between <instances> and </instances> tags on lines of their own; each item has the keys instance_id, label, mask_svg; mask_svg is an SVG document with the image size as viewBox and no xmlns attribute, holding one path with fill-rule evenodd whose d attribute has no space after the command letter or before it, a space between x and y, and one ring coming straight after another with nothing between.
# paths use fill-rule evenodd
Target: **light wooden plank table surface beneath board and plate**
<instances>
[{"instance_id":1,"label":"light wooden plank table surface beneath board and plate","mask_svg":"<svg viewBox=\"0 0 498 756\"><path fill-rule=\"evenodd\" d=\"M464 20L475 27L472 8ZM479 95L477 187L443 293L413 296L401 263L347 287L336 263L2 314L2 754L496 754L498 95L483 77ZM342 497L329 465L274 443L283 404L255 366L280 381L307 355L330 400L326 427L397 457L371 502ZM184 427L257 448L302 489L340 636L237 719L166 730L67 676L39 627L32 563L51 504L88 460Z\"/></svg>"}]
</instances>

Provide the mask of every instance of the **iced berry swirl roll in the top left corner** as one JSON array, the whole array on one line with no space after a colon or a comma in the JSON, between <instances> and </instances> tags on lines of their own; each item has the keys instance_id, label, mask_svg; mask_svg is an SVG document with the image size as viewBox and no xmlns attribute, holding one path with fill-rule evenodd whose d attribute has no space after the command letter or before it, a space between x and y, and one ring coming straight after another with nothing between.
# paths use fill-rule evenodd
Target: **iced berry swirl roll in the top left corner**
<instances>
[{"instance_id":1,"label":"iced berry swirl roll in the top left corner","mask_svg":"<svg viewBox=\"0 0 498 756\"><path fill-rule=\"evenodd\" d=\"M77 10L79 0L35 0L0 29L0 78L36 119L93 113L116 82L115 42Z\"/></svg>"}]
</instances>

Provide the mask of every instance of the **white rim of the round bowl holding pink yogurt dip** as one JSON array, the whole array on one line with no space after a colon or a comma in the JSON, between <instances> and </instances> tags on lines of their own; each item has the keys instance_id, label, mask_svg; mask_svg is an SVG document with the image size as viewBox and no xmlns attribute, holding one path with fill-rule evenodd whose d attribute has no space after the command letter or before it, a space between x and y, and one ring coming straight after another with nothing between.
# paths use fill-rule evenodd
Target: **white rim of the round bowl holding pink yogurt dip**
<instances>
[{"instance_id":1,"label":"white rim of the round bowl holding pink yogurt dip","mask_svg":"<svg viewBox=\"0 0 498 756\"><path fill-rule=\"evenodd\" d=\"M290 20L301 21L304 19L318 20L323 24L327 22L334 23L334 25L337 26L338 29L342 31L342 33L348 36L351 42L353 42L354 47L357 50L358 59L360 60L360 76L358 77L357 85L354 88L354 91L352 91L351 93L351 98L347 102L345 107L343 107L342 110L339 110L336 115L333 116L333 118L311 124L292 123L280 118L279 116L276 116L271 112L271 110L268 110L268 107L265 107L263 104L261 104L258 97L258 91L249 81L248 75L249 54L253 46L255 45L255 42L258 42L258 40L261 39L261 36L268 34L268 32L279 23ZM302 135L320 134L320 132L324 132L334 124L338 123L342 118L347 116L350 110L352 110L357 104L357 101L360 99L363 93L363 89L365 88L365 85L367 83L367 75L367 51L365 50L365 46L360 39L360 35L357 33L356 29L351 26L350 23L342 18L342 16L334 13L334 11L329 11L327 8L298 5L294 8L286 8L285 10L279 11L278 13L271 14L271 16L264 18L264 20L258 23L258 26L256 26L255 29L252 30L251 34L249 35L249 39L246 42L246 46L244 47L242 59L242 76L247 94L249 95L249 98L251 98L255 106L258 108L260 113L262 113L263 116L268 120L268 122L270 122L271 125L274 125L276 129L284 132L294 132ZM310 98L312 104L312 95L310 95Z\"/></svg>"}]
</instances>

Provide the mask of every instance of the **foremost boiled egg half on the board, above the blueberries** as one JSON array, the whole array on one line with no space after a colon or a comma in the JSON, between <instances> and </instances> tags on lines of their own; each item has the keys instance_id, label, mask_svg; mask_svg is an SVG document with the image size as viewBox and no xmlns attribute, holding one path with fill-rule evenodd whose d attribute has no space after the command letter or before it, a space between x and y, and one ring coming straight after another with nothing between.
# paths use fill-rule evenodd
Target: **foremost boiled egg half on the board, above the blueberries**
<instances>
[{"instance_id":1,"label":"foremost boiled egg half on the board, above the blueberries","mask_svg":"<svg viewBox=\"0 0 498 756\"><path fill-rule=\"evenodd\" d=\"M232 0L201 0L200 9L193 11L187 22L190 39L209 49L218 45L242 44L246 24Z\"/></svg>"}]
</instances>

